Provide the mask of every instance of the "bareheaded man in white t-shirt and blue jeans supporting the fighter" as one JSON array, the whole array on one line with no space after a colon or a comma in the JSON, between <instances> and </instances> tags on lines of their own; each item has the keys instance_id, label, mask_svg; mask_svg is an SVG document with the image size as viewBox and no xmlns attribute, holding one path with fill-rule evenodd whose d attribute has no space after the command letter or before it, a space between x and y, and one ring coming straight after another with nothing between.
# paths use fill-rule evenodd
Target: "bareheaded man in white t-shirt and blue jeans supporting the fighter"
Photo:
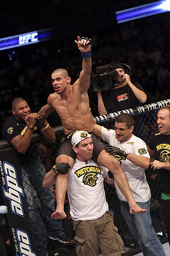
<instances>
[{"instance_id":1,"label":"bareheaded man in white t-shirt and blue jeans supporting the fighter","mask_svg":"<svg viewBox=\"0 0 170 256\"><path fill-rule=\"evenodd\" d=\"M145 169L150 165L150 155L146 143L132 134L134 118L130 114L119 114L115 118L114 128L115 130L109 130L94 124L93 133L110 144L106 151L118 159L137 205L147 210L142 214L130 215L126 198L115 182L116 192L121 201L121 213L132 235L140 243L144 256L166 255L151 225L151 192L145 176Z\"/></svg>"}]
</instances>

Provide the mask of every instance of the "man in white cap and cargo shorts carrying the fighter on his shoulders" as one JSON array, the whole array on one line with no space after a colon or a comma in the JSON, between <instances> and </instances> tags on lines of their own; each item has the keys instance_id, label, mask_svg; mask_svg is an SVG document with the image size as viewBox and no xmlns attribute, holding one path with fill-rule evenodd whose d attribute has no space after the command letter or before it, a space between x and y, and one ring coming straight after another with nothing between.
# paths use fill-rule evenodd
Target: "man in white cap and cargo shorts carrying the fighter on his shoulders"
<instances>
[{"instance_id":1,"label":"man in white cap and cargo shorts carrying the fighter on his shoulders","mask_svg":"<svg viewBox=\"0 0 170 256\"><path fill-rule=\"evenodd\" d=\"M108 169L92 158L91 135L84 131L72 136L72 148L76 152L75 164L68 173L68 199L70 214L76 231L76 253L81 255L120 256L123 241L114 226L113 214L108 211L103 181L113 184Z\"/></svg>"}]
</instances>

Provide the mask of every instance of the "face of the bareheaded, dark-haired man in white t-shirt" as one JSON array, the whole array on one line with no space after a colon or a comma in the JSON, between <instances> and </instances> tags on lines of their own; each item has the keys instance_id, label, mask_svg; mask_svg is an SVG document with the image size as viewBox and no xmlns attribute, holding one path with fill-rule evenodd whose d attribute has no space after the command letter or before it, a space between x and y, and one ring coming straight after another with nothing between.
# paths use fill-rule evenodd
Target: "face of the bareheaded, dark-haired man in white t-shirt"
<instances>
[{"instance_id":1,"label":"face of the bareheaded, dark-haired man in white t-shirt","mask_svg":"<svg viewBox=\"0 0 170 256\"><path fill-rule=\"evenodd\" d=\"M116 138L119 140L119 142L127 142L127 140L129 140L132 136L131 133L134 127L131 126L129 129L127 129L126 123L115 122L114 129L116 132Z\"/></svg>"}]
</instances>

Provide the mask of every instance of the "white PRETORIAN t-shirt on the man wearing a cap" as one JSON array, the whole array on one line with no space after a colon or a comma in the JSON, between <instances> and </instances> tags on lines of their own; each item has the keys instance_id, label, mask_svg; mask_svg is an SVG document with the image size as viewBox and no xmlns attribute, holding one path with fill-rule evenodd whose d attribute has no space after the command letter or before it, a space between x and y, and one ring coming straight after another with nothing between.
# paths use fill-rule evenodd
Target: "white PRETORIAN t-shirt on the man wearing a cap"
<instances>
[{"instance_id":1,"label":"white PRETORIAN t-shirt on the man wearing a cap","mask_svg":"<svg viewBox=\"0 0 170 256\"><path fill-rule=\"evenodd\" d=\"M68 200L74 221L97 220L108 211L105 198L104 178L108 169L92 159L84 163L76 159L68 173Z\"/></svg>"}]
</instances>

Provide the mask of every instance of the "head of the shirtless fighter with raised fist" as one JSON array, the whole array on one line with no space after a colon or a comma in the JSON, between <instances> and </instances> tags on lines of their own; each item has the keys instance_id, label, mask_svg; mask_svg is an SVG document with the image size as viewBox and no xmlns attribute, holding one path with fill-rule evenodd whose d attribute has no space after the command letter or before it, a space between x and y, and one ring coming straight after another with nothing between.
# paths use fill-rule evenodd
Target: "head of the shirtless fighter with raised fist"
<instances>
[{"instance_id":1,"label":"head of the shirtless fighter with raised fist","mask_svg":"<svg viewBox=\"0 0 170 256\"><path fill-rule=\"evenodd\" d=\"M57 94L65 92L70 81L70 77L63 76L62 72L54 72L51 75L52 86Z\"/></svg>"}]
</instances>

